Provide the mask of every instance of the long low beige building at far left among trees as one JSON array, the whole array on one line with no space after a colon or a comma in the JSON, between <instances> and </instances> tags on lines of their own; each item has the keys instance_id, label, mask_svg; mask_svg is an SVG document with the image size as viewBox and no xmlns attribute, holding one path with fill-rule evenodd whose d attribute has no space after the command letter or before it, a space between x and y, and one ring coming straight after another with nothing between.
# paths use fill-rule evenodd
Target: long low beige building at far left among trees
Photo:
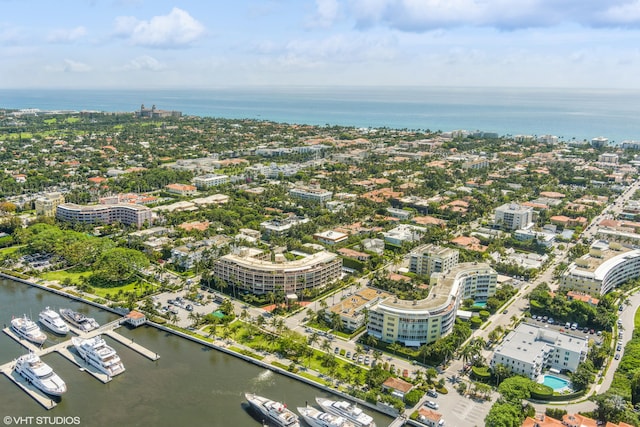
<instances>
[{"instance_id":1,"label":"long low beige building at far left among trees","mask_svg":"<svg viewBox=\"0 0 640 427\"><path fill-rule=\"evenodd\" d=\"M135 225L140 228L147 222L152 224L151 209L142 205L121 203L116 205L76 205L63 203L56 209L56 218L60 221L78 222L84 224L112 224L119 222L124 225Z\"/></svg>"}]
</instances>

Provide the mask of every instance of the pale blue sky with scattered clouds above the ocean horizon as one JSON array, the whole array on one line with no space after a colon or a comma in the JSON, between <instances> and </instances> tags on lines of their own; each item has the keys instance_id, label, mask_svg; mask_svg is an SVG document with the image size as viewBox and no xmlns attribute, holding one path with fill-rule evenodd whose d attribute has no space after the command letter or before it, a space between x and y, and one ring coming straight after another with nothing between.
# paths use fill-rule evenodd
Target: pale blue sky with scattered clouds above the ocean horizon
<instances>
[{"instance_id":1,"label":"pale blue sky with scattered clouds above the ocean horizon","mask_svg":"<svg viewBox=\"0 0 640 427\"><path fill-rule=\"evenodd\" d=\"M0 0L0 88L640 89L640 0Z\"/></svg>"}]
</instances>

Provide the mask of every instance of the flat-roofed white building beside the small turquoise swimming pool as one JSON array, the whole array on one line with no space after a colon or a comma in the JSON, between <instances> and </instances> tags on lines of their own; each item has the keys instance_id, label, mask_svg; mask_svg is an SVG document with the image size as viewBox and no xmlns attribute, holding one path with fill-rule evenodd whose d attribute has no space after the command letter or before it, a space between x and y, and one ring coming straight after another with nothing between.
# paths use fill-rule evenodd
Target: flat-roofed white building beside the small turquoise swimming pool
<instances>
[{"instance_id":1,"label":"flat-roofed white building beside the small turquoise swimming pool","mask_svg":"<svg viewBox=\"0 0 640 427\"><path fill-rule=\"evenodd\" d=\"M491 368L504 365L514 374L537 380L544 369L575 372L589 351L586 336L521 323L496 348Z\"/></svg>"}]
</instances>

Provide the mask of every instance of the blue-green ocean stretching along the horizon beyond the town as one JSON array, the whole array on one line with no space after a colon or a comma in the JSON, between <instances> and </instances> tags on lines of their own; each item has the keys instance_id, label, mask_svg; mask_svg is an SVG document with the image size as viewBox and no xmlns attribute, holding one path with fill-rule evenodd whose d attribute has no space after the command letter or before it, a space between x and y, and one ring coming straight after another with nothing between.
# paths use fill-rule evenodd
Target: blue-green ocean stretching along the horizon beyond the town
<instances>
[{"instance_id":1,"label":"blue-green ocean stretching along the horizon beyond the town","mask_svg":"<svg viewBox=\"0 0 640 427\"><path fill-rule=\"evenodd\" d=\"M640 140L640 91L601 89L274 87L203 90L8 90L0 108L183 114L310 125L603 136Z\"/></svg>"}]
</instances>

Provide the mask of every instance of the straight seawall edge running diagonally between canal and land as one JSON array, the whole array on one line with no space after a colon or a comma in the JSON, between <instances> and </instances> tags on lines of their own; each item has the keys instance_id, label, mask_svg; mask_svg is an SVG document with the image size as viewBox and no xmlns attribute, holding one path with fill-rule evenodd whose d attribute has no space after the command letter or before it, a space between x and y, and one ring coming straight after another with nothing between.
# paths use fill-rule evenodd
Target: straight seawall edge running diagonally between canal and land
<instances>
[{"instance_id":1,"label":"straight seawall edge running diagonally between canal and land","mask_svg":"<svg viewBox=\"0 0 640 427\"><path fill-rule=\"evenodd\" d=\"M52 293L54 293L54 294L56 294L58 296L61 296L61 297L64 297L64 298L69 298L69 299L72 299L74 301L82 302L82 303L85 303L85 304L89 304L89 305L91 305L93 307L108 311L108 312L116 314L118 316L122 316L122 313L118 312L114 308L111 308L111 307L108 307L106 305L102 305L102 304L96 303L94 301L91 301L91 300L88 300L88 299L85 299L85 298L82 298L82 297L79 297L79 296L76 296L76 295L69 294L69 293L64 292L62 290L59 290L59 289L50 288L48 286L29 281L27 279L23 279L23 278L20 278L20 277L12 276L12 275L6 273L6 271L0 272L0 278L7 279L7 280L12 280L14 282L22 283L22 284L25 284L25 285L29 285L29 286L38 288L38 289L40 289L42 291L52 292ZM215 342L210 342L210 341L207 341L205 339L201 339L201 338L195 337L195 336L193 336L191 334L182 332L182 331L174 329L174 328L170 328L170 327L165 326L165 325L161 325L159 323L155 323L155 322L153 322L151 320L148 320L148 319L146 321L146 324L151 326L151 327L153 327L153 328L155 328L155 329L157 329L157 330L159 330L159 331L169 332L169 333L174 334L176 336L179 336L181 338L187 339L187 340L195 342L197 344L205 345L205 346L210 347L210 348L212 348L214 350L217 350L217 351L220 351L220 352L222 352L224 354L227 354L229 356L233 356L235 358L241 359L241 360L243 360L245 362L251 363L251 364L259 366L261 368L268 369L268 370L270 370L272 372L287 376L287 377L289 377L291 379L294 379L296 381L301 381L301 382L303 382L303 383L305 383L307 385L313 386L313 387L315 387L317 389L320 389L320 390L322 390L324 392L331 393L332 395L334 395L334 396L336 396L336 397L338 397L340 399L356 402L357 404L359 404L361 406L366 406L367 408L375 410L376 412L379 412L379 413L381 413L383 415L386 415L386 416L389 416L389 417L392 417L392 418L397 418L398 416L402 415L402 414L397 413L397 411L395 411L395 409L393 409L391 407L373 405L373 404L371 404L371 403L369 403L369 402L367 402L365 400L358 399L358 398L356 398L354 396L351 396L349 394L346 394L344 392L336 390L335 388L320 384L320 383L315 382L315 381L313 381L313 380L311 380L309 378L306 378L304 376L298 375L295 372L290 372L290 371L288 371L286 369L282 369L282 368L280 368L278 366L275 366L275 365L273 365L271 363L264 362L264 361L258 360L258 359L254 359L251 356L236 352L236 351L234 351L234 350L232 350L230 348L227 348L225 346L217 345ZM234 341L234 343L235 343L235 341ZM235 344L237 346L241 346L241 344L239 344L239 343L235 343ZM255 352L254 350L250 350L250 351L251 352ZM288 359L283 359L283 360L288 361ZM292 363L291 361L288 361L288 362Z\"/></svg>"}]
</instances>

